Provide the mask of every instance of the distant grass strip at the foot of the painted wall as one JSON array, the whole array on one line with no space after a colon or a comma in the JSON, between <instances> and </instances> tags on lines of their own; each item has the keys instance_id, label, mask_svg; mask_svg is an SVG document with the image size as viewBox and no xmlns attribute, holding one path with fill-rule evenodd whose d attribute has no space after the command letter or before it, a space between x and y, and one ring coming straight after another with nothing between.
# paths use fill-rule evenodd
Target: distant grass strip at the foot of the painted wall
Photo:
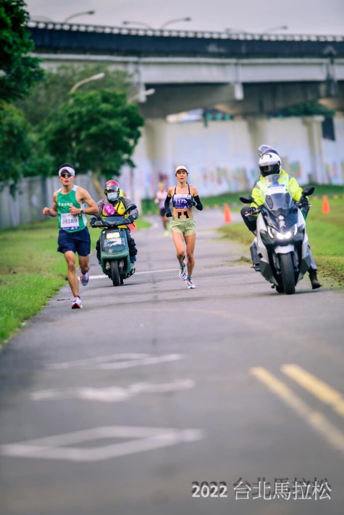
<instances>
[{"instance_id":1,"label":"distant grass strip at the foot of the painted wall","mask_svg":"<svg viewBox=\"0 0 344 515\"><path fill-rule=\"evenodd\" d=\"M344 195L344 186L336 186L333 184L324 184L324 185L316 185L313 183L313 186L315 186L315 197L322 197L322 195L328 195L329 197L332 197L333 195L338 195L339 197L343 198ZM239 200L239 197L241 195L250 195L251 190L247 192L236 192L236 193L222 193L221 195L217 196L209 196L209 197L201 197L201 201L204 207L215 207L219 206L221 207L223 204L227 203L229 204L231 210L233 211L240 211L240 209L243 207L244 204L242 204ZM159 208L158 204L154 203L153 199L142 199L142 211L145 214L159 214Z\"/></svg>"}]
</instances>

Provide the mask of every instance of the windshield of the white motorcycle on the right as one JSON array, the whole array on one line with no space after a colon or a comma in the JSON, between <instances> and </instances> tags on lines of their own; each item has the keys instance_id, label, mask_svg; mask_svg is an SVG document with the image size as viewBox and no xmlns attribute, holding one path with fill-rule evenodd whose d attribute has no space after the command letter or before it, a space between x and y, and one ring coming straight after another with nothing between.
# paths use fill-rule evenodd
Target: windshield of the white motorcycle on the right
<instances>
[{"instance_id":1,"label":"windshield of the white motorcycle on the right","mask_svg":"<svg viewBox=\"0 0 344 515\"><path fill-rule=\"evenodd\" d=\"M280 174L268 175L261 181L267 224L282 232L297 222L297 209L288 187L288 177Z\"/></svg>"}]
</instances>

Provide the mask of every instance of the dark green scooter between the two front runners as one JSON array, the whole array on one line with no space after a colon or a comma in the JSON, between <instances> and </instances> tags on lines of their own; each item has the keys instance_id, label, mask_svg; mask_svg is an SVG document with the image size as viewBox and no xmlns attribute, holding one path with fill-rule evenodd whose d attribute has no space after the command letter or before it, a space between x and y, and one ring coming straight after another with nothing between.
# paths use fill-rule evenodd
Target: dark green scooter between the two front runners
<instances>
[{"instance_id":1,"label":"dark green scooter between the two front runners","mask_svg":"<svg viewBox=\"0 0 344 515\"><path fill-rule=\"evenodd\" d=\"M133 209L136 209L135 204L131 204L122 216L90 220L91 227L103 228L100 233L101 268L105 275L112 280L114 286L122 285L124 279L128 279L135 272L135 268L130 263L126 231L118 227L130 224L124 215Z\"/></svg>"}]
</instances>

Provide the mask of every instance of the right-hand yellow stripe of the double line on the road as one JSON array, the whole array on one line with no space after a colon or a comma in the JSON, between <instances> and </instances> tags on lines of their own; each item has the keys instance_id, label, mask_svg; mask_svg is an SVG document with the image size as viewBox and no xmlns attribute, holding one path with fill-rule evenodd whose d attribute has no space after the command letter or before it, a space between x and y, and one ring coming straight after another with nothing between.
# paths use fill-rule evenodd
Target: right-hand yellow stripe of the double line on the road
<instances>
[{"instance_id":1,"label":"right-hand yellow stripe of the double line on the road","mask_svg":"<svg viewBox=\"0 0 344 515\"><path fill-rule=\"evenodd\" d=\"M344 399L339 391L298 365L282 365L281 370L321 402L332 406L341 417L344 417Z\"/></svg>"}]
</instances>

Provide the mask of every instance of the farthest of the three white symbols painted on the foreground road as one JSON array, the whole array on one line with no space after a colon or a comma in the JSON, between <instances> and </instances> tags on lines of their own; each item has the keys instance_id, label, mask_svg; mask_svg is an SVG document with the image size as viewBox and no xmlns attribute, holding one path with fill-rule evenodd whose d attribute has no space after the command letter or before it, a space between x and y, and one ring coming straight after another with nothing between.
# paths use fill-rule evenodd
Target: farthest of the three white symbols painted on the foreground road
<instances>
[{"instance_id":1,"label":"farthest of the three white symbols painted on the foreground road","mask_svg":"<svg viewBox=\"0 0 344 515\"><path fill-rule=\"evenodd\" d=\"M84 367L97 370L114 370L178 361L178 359L182 359L183 357L183 354L163 354L159 356L151 356L149 354L110 354L108 356L98 356L89 359L76 359L75 361L67 361L64 363L53 363L48 365L47 368L60 370ZM119 361L121 359L128 359L128 361Z\"/></svg>"}]
</instances>

